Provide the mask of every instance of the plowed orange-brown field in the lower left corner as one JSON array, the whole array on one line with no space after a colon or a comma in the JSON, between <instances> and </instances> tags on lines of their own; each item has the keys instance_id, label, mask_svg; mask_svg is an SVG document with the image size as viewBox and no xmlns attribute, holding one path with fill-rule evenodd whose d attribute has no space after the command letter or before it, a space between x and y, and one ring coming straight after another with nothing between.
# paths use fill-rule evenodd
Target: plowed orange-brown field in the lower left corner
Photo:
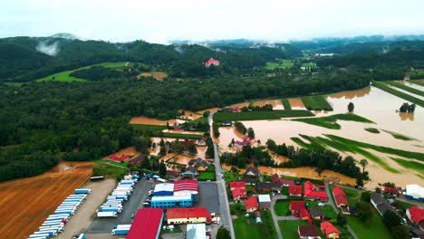
<instances>
[{"instance_id":1,"label":"plowed orange-brown field in the lower left corner","mask_svg":"<svg viewBox=\"0 0 424 239\"><path fill-rule=\"evenodd\" d=\"M41 176L1 183L1 237L28 238L73 189L87 181L92 167L87 162L63 162Z\"/></svg>"}]
</instances>

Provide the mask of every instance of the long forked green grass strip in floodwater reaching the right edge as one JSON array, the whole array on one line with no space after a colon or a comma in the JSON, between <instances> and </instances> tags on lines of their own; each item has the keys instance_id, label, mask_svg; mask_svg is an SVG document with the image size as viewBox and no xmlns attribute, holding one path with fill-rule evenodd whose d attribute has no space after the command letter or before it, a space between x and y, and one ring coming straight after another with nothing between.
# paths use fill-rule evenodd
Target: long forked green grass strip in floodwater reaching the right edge
<instances>
[{"instance_id":1,"label":"long forked green grass strip in floodwater reaching the right edge","mask_svg":"<svg viewBox=\"0 0 424 239\"><path fill-rule=\"evenodd\" d=\"M410 152L397 148L388 148L383 146L372 145L364 142L355 141L352 139L345 139L335 135L325 135L323 137L309 137L306 135L300 135L302 138L306 139L308 142L305 142L300 138L292 138L294 142L298 143L303 148L310 149L322 149L322 148L334 148L342 152L352 152L354 154L361 154L364 158L368 158L371 161L377 163L382 168L392 172L400 173L399 170L390 167L386 162L381 158L371 154L369 151L364 148L373 149L384 154L396 155L402 158L415 158L420 161L424 161L424 154L420 152Z\"/></svg>"}]
</instances>

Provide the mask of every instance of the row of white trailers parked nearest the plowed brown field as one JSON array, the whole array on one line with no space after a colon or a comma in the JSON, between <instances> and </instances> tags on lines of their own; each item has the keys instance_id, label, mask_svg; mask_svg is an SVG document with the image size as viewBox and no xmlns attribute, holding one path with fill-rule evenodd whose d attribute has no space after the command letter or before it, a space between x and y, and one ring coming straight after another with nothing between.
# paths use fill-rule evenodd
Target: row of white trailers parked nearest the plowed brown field
<instances>
[{"instance_id":1,"label":"row of white trailers parked nearest the plowed brown field","mask_svg":"<svg viewBox=\"0 0 424 239\"><path fill-rule=\"evenodd\" d=\"M34 234L30 234L28 238L48 239L63 232L64 226L70 217L76 213L91 193L91 189L75 189L74 194L66 197L63 203L56 208L53 215L49 215L43 222L43 225ZM84 239L85 234L80 234L77 238Z\"/></svg>"}]
</instances>

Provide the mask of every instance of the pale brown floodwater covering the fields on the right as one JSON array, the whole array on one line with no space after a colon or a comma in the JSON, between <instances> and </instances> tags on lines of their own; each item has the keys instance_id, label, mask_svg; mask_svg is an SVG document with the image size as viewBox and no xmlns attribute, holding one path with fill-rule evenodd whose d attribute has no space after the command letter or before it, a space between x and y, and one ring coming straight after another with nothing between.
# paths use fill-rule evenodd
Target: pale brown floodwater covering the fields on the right
<instances>
[{"instance_id":1,"label":"pale brown floodwater covering the fields on the right","mask_svg":"<svg viewBox=\"0 0 424 239\"><path fill-rule=\"evenodd\" d=\"M385 91L381 91L375 87L367 87L357 91L343 91L331 94L326 100L332 105L333 111L317 110L313 111L318 117L328 116L332 114L346 113L347 105L353 102L355 108L354 113L374 121L376 124L361 123L355 121L338 120L337 123L342 129L326 129L298 121L289 119L282 120L252 120L243 121L246 128L255 129L255 139L261 140L265 144L267 139L274 139L277 144L296 145L290 138L299 137L299 134L308 136L323 136L323 134L332 134L346 139L367 142L374 145L381 145L390 148L399 148L408 151L424 152L424 110L417 106L414 114L399 113L401 104L405 102L396 96ZM299 98L289 99L293 109L301 109L304 107L302 100ZM297 107L297 108L296 108ZM406 141L393 138L390 133L382 131L380 134L374 134L364 130L365 128L386 129L402 135L408 136L413 140ZM221 150L228 150L228 144L231 139L241 139L232 128L219 129L221 136L219 137L219 146ZM397 169L400 173L391 173L380 166L368 160L370 165L367 170L370 172L371 182L367 187L375 187L378 183L394 181L399 186L405 186L410 183L417 183L422 179L417 173L409 169L400 167L389 155L382 154L367 149L373 155L381 158L390 167ZM347 154L342 153L343 156ZM353 158L360 160L361 155L352 155ZM393 157L393 156L391 156ZM407 158L408 159L408 158ZM264 168L265 169L265 168ZM281 170L278 168L268 168L265 170ZM285 169L284 169L285 170ZM294 170L294 169L290 169ZM286 170L286 172L290 172ZM304 171L302 171L304 173ZM301 172L298 172L301 173Z\"/></svg>"}]
</instances>

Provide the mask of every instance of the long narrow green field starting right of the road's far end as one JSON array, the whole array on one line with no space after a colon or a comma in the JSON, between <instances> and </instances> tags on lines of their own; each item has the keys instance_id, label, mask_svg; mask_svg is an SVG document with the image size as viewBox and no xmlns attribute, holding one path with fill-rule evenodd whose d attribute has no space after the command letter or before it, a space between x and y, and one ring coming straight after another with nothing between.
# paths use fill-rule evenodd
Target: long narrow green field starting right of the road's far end
<instances>
[{"instance_id":1,"label":"long narrow green field starting right of the road's far end","mask_svg":"<svg viewBox=\"0 0 424 239\"><path fill-rule=\"evenodd\" d=\"M260 120L260 119L281 119L289 117L309 117L313 116L308 110L273 110L273 111L250 111L250 112L217 112L214 121L225 120Z\"/></svg>"}]
</instances>

